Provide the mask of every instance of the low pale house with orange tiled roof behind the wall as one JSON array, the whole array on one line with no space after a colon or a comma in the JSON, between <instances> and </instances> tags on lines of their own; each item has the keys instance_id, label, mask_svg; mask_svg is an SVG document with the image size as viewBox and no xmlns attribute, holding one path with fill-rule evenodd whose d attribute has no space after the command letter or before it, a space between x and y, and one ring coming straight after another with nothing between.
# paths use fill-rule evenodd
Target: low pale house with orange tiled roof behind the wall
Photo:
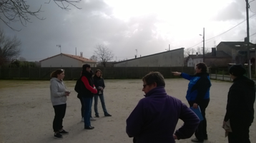
<instances>
[{"instance_id":1,"label":"low pale house with orange tiled roof behind the wall","mask_svg":"<svg viewBox=\"0 0 256 143\"><path fill-rule=\"evenodd\" d=\"M49 58L39 61L41 67L82 67L84 64L89 64L91 67L96 67L96 61L83 57L83 53L79 55L69 55L60 53Z\"/></svg>"}]
</instances>

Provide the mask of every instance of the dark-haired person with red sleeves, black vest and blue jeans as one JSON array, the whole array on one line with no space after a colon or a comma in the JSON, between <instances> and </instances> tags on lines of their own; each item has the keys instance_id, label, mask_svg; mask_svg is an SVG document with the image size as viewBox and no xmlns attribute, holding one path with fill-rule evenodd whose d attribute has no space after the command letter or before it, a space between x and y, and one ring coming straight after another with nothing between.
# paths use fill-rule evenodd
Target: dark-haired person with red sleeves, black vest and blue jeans
<instances>
[{"instance_id":1,"label":"dark-haired person with red sleeves, black vest and blue jeans","mask_svg":"<svg viewBox=\"0 0 256 143\"><path fill-rule=\"evenodd\" d=\"M92 97L97 93L97 89L94 86L94 81L92 78L93 72L91 66L88 64L83 65L81 80L82 83L79 92L79 95L82 96L84 104L84 129L94 129L91 126L90 117L92 114Z\"/></svg>"}]
</instances>

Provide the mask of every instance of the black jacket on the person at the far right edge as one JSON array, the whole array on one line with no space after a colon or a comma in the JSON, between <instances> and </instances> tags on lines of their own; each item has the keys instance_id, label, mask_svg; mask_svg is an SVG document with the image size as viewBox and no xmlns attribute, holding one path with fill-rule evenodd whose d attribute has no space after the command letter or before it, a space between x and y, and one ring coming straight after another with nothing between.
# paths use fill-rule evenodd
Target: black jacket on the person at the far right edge
<instances>
[{"instance_id":1,"label":"black jacket on the person at the far right edge","mask_svg":"<svg viewBox=\"0 0 256 143\"><path fill-rule=\"evenodd\" d=\"M225 122L230 120L231 127L251 124L254 119L255 83L245 76L237 77L227 95Z\"/></svg>"}]
</instances>

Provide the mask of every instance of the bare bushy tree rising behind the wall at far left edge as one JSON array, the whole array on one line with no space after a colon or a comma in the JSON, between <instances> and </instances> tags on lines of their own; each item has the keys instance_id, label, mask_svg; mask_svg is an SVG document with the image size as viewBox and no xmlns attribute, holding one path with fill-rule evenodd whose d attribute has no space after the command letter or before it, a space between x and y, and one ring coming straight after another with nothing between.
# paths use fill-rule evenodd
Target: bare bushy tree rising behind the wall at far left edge
<instances>
[{"instance_id":1,"label":"bare bushy tree rising behind the wall at far left edge","mask_svg":"<svg viewBox=\"0 0 256 143\"><path fill-rule=\"evenodd\" d=\"M21 41L14 36L9 38L5 35L4 31L0 29L0 65L14 60L19 56Z\"/></svg>"}]
</instances>

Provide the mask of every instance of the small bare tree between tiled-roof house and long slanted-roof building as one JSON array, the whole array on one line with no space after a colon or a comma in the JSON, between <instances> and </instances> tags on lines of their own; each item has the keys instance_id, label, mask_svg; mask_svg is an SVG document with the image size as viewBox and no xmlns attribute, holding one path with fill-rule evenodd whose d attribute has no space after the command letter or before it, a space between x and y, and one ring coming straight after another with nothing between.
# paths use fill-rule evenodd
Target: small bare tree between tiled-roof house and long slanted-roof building
<instances>
[{"instance_id":1,"label":"small bare tree between tiled-roof house and long slanted-roof building","mask_svg":"<svg viewBox=\"0 0 256 143\"><path fill-rule=\"evenodd\" d=\"M107 46L104 46L104 44L98 44L95 48L96 51L94 51L94 55L97 55L102 65L106 67L106 63L109 60L112 60L114 54L109 50L109 48L107 48Z\"/></svg>"}]
</instances>

